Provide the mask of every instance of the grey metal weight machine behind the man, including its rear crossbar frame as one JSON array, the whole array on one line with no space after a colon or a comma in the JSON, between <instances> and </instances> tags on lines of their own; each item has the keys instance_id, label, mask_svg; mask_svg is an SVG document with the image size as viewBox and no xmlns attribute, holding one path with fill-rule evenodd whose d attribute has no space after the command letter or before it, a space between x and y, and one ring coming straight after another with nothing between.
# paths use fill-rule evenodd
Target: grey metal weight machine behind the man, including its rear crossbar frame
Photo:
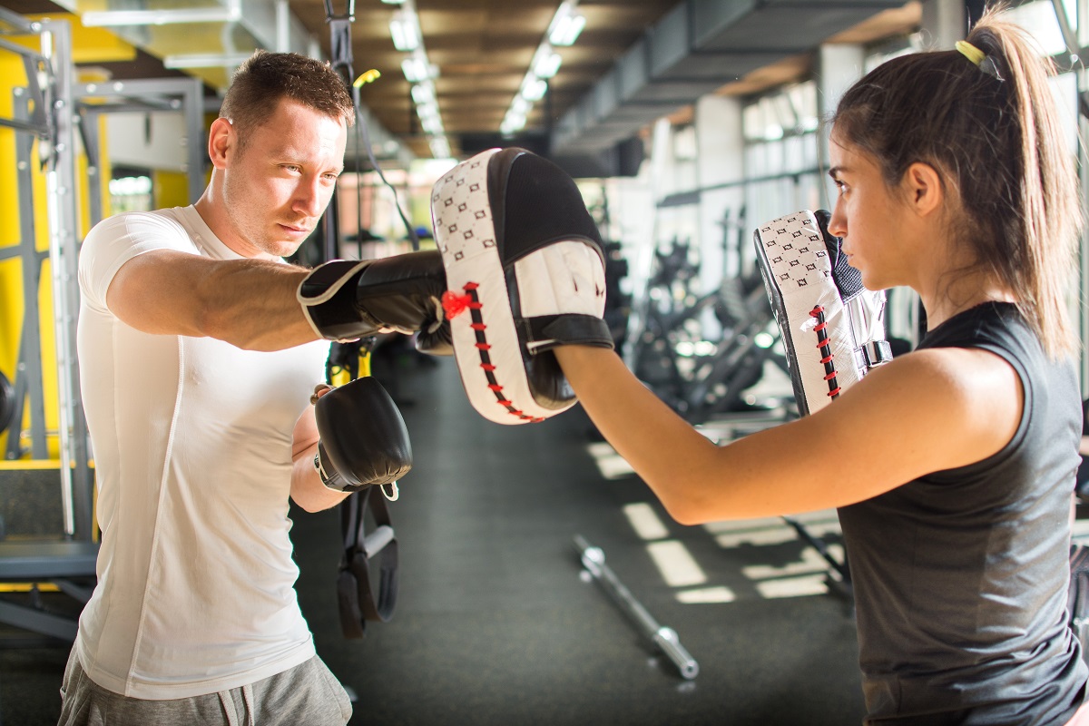
<instances>
[{"instance_id":1,"label":"grey metal weight machine behind the man, including its rear crossbar frame","mask_svg":"<svg viewBox=\"0 0 1089 726\"><path fill-rule=\"evenodd\" d=\"M39 37L40 51L4 40L3 36ZM196 78L161 78L77 84L72 64L71 27L65 21L28 21L0 8L0 52L23 59L27 87L15 88L12 119L0 125L13 128L20 209L19 244L0 249L0 260L20 258L23 283L23 329L16 376L10 398L11 430L4 446L0 476L20 470L59 469L62 532L49 540L8 541L0 536L0 581L29 586L26 603L0 601L0 623L53 639L75 638L73 617L52 613L42 603L38 583L48 582L75 599L79 606L90 596L98 555L94 521L94 472L87 424L79 397L75 328L79 308L76 270L82 239L77 219L79 194L86 194L88 226L103 218L101 144L102 114L125 111L180 111L185 114L188 196L203 192L203 87ZM76 136L87 157L85 185L76 181ZM36 247L34 219L34 147L46 175L49 210L49 250ZM53 330L57 347L60 422L59 462L50 459L46 427L42 342L38 333L38 287L46 260L52 271ZM23 431L24 417L29 428ZM26 457L29 457L27 459ZM11 642L34 643L13 639Z\"/></svg>"}]
</instances>

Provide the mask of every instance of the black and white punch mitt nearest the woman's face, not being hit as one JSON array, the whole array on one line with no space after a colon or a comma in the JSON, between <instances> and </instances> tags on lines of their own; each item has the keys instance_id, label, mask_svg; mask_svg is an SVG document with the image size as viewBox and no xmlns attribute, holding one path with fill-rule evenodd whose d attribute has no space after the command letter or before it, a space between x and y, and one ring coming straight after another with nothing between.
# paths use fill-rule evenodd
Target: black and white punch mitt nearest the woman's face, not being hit
<instances>
[{"instance_id":1,"label":"black and white punch mitt nearest the woman's face, not being hit","mask_svg":"<svg viewBox=\"0 0 1089 726\"><path fill-rule=\"evenodd\" d=\"M829 213L804 210L756 231L757 263L791 369L798 414L813 414L871 368L892 360L883 291L861 274L828 232Z\"/></svg>"}]
</instances>

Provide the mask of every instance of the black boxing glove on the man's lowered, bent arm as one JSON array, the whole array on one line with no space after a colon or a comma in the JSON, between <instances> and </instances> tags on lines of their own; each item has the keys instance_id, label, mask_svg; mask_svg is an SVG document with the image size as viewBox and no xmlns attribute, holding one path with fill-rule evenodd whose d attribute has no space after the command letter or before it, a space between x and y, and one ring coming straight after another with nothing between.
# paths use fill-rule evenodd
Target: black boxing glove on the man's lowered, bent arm
<instances>
[{"instance_id":1,"label":"black boxing glove on the man's lowered, bent arm","mask_svg":"<svg viewBox=\"0 0 1089 726\"><path fill-rule=\"evenodd\" d=\"M335 387L314 404L321 483L355 492L396 481L412 469L412 443L396 404L375 378Z\"/></svg>"}]
</instances>

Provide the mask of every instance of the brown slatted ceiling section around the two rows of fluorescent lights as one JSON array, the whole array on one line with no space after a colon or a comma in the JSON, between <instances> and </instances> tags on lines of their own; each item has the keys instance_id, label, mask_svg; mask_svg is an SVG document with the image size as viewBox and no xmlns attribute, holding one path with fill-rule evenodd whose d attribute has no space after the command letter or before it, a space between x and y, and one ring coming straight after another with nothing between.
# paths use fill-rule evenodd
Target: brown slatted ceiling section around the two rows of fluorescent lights
<instances>
[{"instance_id":1,"label":"brown slatted ceiling section around the two rows of fluorescent lights","mask_svg":"<svg viewBox=\"0 0 1089 726\"><path fill-rule=\"evenodd\" d=\"M341 3L334 3L334 7ZM322 0L292 0L303 24L322 38L329 29ZM555 48L562 58L549 91L534 106L526 128L547 133L551 119L568 109L643 33L677 4L676 0L583 0L586 27L575 45ZM417 0L420 32L431 63L440 112L452 145L463 135L499 133L518 93L534 52L544 38L559 0ZM401 72L405 57L390 37L396 5L358 0L352 25L356 72L378 69L382 76L360 88L363 102L392 134L429 156L414 112L409 84ZM467 139L473 146L472 139ZM455 148L455 151L457 149Z\"/></svg>"}]
</instances>

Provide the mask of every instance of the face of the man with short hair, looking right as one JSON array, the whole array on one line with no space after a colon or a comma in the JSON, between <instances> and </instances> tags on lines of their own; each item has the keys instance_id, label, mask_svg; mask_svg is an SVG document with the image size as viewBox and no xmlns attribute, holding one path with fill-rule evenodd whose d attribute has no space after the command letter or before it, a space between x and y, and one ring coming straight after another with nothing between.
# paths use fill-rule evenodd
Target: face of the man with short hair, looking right
<instances>
[{"instance_id":1,"label":"face of the man with short hair, looking right","mask_svg":"<svg viewBox=\"0 0 1089 726\"><path fill-rule=\"evenodd\" d=\"M344 169L347 128L292 100L282 100L265 123L237 136L223 180L223 242L245 257L293 254L314 231ZM240 248L241 247L241 248Z\"/></svg>"}]
</instances>

